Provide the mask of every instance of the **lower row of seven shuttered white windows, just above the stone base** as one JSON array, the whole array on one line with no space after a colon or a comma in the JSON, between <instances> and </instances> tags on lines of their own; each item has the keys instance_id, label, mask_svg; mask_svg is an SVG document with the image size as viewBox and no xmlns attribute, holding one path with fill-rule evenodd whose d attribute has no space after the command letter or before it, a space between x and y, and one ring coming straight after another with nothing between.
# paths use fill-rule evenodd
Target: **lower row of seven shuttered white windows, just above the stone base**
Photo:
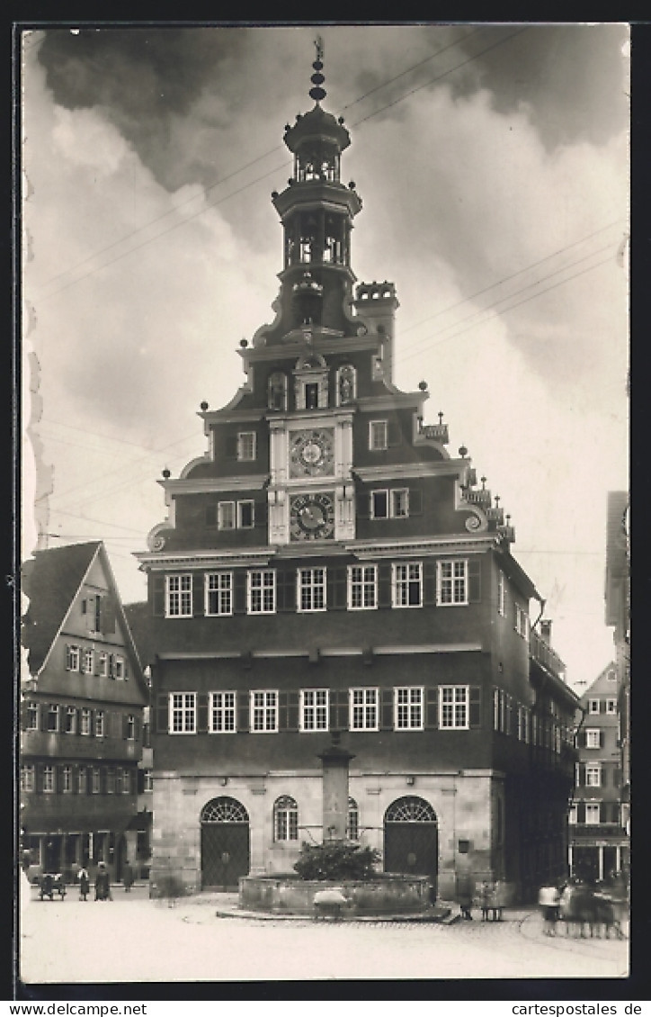
<instances>
[{"instance_id":1,"label":"lower row of seven shuttered white windows, just above the stone base","mask_svg":"<svg viewBox=\"0 0 651 1017\"><path fill-rule=\"evenodd\" d=\"M481 690L476 685L172 692L158 697L157 730L170 734L467 730L480 726L480 708Z\"/></svg>"}]
</instances>

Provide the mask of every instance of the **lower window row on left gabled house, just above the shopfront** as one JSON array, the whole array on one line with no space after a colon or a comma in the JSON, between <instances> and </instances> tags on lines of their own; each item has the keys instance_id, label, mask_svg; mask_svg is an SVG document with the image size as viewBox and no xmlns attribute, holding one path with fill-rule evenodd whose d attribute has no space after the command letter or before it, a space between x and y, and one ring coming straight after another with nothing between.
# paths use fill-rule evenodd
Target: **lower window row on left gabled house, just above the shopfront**
<instances>
[{"instance_id":1,"label":"lower window row on left gabled house, just above the shopfront","mask_svg":"<svg viewBox=\"0 0 651 1017\"><path fill-rule=\"evenodd\" d=\"M134 767L22 763L20 790L39 794L136 794Z\"/></svg>"}]
</instances>

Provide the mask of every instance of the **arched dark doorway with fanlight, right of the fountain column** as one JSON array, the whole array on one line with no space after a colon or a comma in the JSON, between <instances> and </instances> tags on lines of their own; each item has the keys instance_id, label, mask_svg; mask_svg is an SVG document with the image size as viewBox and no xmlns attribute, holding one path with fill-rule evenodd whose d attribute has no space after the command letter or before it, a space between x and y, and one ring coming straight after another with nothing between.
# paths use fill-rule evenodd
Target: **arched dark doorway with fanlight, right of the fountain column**
<instances>
[{"instance_id":1,"label":"arched dark doorway with fanlight, right of the fountain column","mask_svg":"<svg viewBox=\"0 0 651 1017\"><path fill-rule=\"evenodd\" d=\"M406 795L392 801L384 815L384 871L429 876L436 899L439 872L437 814L425 798Z\"/></svg>"}]
</instances>

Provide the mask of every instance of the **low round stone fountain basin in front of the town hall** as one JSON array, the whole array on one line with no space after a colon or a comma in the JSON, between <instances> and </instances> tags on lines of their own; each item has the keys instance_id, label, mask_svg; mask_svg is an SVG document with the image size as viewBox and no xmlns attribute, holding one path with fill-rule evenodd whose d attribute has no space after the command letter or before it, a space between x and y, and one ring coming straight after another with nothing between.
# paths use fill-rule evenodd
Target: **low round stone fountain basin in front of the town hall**
<instances>
[{"instance_id":1,"label":"low round stone fountain basin in front of the town hall","mask_svg":"<svg viewBox=\"0 0 651 1017\"><path fill-rule=\"evenodd\" d=\"M244 876L240 907L282 914L315 913L314 895L338 890L348 900L342 915L417 914L431 906L427 876L382 873L372 880L302 880L291 874Z\"/></svg>"}]
</instances>

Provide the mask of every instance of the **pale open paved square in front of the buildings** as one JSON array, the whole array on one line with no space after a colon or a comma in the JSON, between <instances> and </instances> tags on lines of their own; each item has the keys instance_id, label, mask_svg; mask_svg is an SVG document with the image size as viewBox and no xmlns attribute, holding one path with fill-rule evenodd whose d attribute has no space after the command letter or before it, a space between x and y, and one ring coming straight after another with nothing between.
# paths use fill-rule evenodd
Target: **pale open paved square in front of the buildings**
<instances>
[{"instance_id":1,"label":"pale open paved square in front of the buildings","mask_svg":"<svg viewBox=\"0 0 651 1017\"><path fill-rule=\"evenodd\" d=\"M111 902L32 899L20 937L23 982L343 978L623 978L628 940L543 935L535 909L452 924L217 916L235 895L169 906L147 888Z\"/></svg>"}]
</instances>

